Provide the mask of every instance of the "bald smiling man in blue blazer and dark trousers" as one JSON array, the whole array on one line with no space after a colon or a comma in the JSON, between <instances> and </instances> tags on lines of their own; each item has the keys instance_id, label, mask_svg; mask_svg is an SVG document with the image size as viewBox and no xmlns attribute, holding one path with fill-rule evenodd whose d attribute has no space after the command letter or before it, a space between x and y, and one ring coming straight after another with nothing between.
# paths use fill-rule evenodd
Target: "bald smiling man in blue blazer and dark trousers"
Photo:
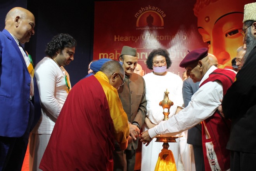
<instances>
[{"instance_id":1,"label":"bald smiling man in blue blazer and dark trousers","mask_svg":"<svg viewBox=\"0 0 256 171\"><path fill-rule=\"evenodd\" d=\"M29 132L40 118L33 62L20 43L34 35L35 17L15 7L0 32L0 171L20 171Z\"/></svg>"}]
</instances>

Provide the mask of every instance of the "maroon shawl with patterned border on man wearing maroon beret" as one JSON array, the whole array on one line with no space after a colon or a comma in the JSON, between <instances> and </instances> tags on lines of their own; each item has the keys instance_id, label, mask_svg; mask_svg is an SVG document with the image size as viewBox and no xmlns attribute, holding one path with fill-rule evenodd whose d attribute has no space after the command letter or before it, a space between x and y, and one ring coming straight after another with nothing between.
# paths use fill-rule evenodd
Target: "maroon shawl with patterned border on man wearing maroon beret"
<instances>
[{"instance_id":1,"label":"maroon shawl with patterned border on man wearing maroon beret","mask_svg":"<svg viewBox=\"0 0 256 171\"><path fill-rule=\"evenodd\" d=\"M224 96L235 80L235 73L227 69L216 69L200 86L216 80L222 83ZM202 144L206 171L224 171L230 168L230 151L226 149L230 124L230 120L218 114L218 110L202 122Z\"/></svg>"}]
</instances>

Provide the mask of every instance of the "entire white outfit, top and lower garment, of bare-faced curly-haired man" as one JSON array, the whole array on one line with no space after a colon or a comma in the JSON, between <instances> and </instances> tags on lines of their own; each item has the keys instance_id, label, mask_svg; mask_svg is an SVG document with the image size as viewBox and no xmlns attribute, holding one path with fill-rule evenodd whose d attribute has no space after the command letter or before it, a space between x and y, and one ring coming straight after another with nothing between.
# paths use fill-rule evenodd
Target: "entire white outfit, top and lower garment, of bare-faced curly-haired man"
<instances>
[{"instance_id":1,"label":"entire white outfit, top and lower garment, of bare-faced curly-haired man","mask_svg":"<svg viewBox=\"0 0 256 171\"><path fill-rule=\"evenodd\" d=\"M50 135L68 95L64 67L60 68L50 57L44 57L35 67L42 117L32 130L29 142L30 170L40 170L39 164L49 142ZM69 81L70 85L70 81Z\"/></svg>"}]
</instances>

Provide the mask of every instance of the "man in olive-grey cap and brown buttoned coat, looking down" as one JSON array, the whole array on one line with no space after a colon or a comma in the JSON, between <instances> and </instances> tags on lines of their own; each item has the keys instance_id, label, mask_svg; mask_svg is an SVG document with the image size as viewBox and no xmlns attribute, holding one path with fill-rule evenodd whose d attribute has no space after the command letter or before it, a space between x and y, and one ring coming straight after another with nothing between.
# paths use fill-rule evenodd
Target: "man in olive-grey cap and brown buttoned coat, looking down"
<instances>
[{"instance_id":1,"label":"man in olive-grey cap and brown buttoned coat, looking down","mask_svg":"<svg viewBox=\"0 0 256 171\"><path fill-rule=\"evenodd\" d=\"M118 143L115 143L113 152L114 171L134 171L138 136L147 112L145 81L142 76L133 73L138 62L136 48L124 46L119 56L119 61L123 62L125 84L120 86L118 95L128 117L130 136L132 138L131 142L128 142L126 150L121 150Z\"/></svg>"}]
</instances>

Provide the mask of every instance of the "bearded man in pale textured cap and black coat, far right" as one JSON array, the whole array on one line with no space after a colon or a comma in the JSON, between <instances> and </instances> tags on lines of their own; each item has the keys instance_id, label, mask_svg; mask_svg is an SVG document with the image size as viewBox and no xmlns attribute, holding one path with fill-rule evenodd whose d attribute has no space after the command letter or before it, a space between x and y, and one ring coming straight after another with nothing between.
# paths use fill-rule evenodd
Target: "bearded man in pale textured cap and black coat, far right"
<instances>
[{"instance_id":1,"label":"bearded man in pale textured cap and black coat, far right","mask_svg":"<svg viewBox=\"0 0 256 171\"><path fill-rule=\"evenodd\" d=\"M256 159L256 3L244 6L243 31L245 63L236 81L223 98L226 119L231 119L227 149L231 150L230 170L255 170ZM253 78L253 79L252 79Z\"/></svg>"}]
</instances>

